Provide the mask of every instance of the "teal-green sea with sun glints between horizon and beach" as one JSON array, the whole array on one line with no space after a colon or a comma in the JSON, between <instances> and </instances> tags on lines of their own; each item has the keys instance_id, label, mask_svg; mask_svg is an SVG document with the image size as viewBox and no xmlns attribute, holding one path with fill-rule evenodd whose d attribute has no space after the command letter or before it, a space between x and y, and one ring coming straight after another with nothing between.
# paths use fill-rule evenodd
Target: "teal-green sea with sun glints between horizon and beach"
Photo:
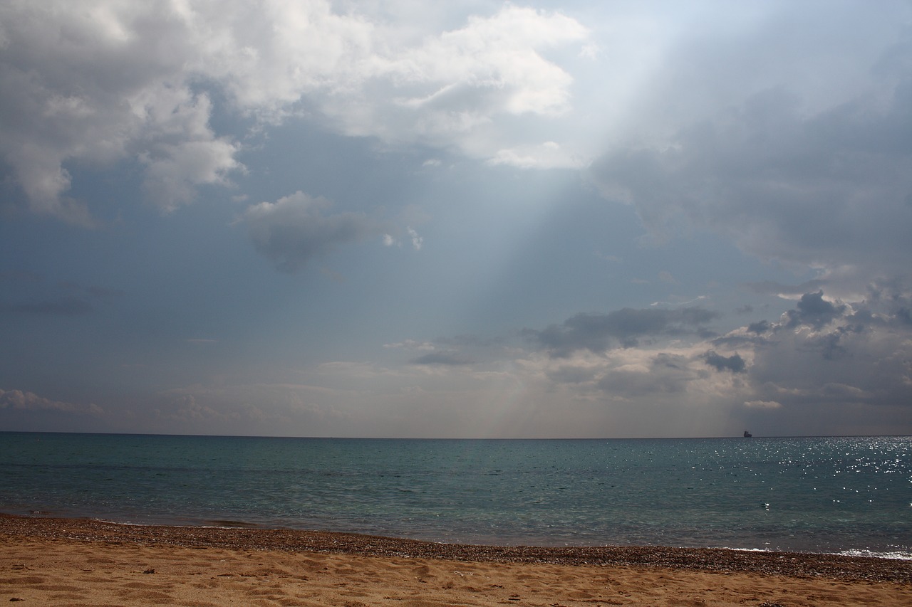
<instances>
[{"instance_id":1,"label":"teal-green sea with sun glints between horizon and beach","mask_svg":"<svg viewBox=\"0 0 912 607\"><path fill-rule=\"evenodd\" d=\"M912 437L0 433L0 512L437 542L912 559Z\"/></svg>"}]
</instances>

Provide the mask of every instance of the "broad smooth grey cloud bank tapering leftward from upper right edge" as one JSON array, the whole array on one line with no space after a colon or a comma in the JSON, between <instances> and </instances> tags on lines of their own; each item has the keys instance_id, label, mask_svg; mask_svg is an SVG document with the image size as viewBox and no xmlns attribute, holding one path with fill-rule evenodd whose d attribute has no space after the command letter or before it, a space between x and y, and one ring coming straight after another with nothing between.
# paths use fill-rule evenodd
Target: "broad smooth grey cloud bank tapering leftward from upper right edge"
<instances>
[{"instance_id":1,"label":"broad smooth grey cloud bank tapering leftward from upper right edge","mask_svg":"<svg viewBox=\"0 0 912 607\"><path fill-rule=\"evenodd\" d=\"M886 79L895 84L885 95L810 117L781 88L764 91L660 148L611 152L592 175L658 234L680 223L719 231L745 252L819 265L834 286L857 288L872 273L902 272L912 255L912 79L907 70Z\"/></svg>"}]
</instances>

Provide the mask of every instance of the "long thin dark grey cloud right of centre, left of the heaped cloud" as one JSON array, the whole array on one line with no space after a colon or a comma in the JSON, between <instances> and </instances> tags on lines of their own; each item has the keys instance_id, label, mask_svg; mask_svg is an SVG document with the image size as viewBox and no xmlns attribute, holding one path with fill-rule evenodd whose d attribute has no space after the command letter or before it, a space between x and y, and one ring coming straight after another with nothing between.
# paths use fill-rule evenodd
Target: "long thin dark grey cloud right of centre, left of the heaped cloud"
<instances>
[{"instance_id":1,"label":"long thin dark grey cloud right of centre, left of the heaped cloud","mask_svg":"<svg viewBox=\"0 0 912 607\"><path fill-rule=\"evenodd\" d=\"M566 356L576 350L605 352L612 345L634 347L645 337L699 334L700 324L709 323L718 313L700 307L680 310L624 308L608 314L576 314L563 324L552 324L542 331L526 329L551 355Z\"/></svg>"}]
</instances>

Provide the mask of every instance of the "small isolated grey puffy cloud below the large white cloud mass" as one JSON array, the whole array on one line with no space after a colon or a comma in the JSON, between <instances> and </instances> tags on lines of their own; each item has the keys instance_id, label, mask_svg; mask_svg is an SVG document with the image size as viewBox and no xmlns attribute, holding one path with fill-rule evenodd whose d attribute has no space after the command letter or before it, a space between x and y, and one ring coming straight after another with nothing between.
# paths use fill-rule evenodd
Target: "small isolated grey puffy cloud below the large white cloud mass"
<instances>
[{"instance_id":1,"label":"small isolated grey puffy cloud below the large white cloud mass","mask_svg":"<svg viewBox=\"0 0 912 607\"><path fill-rule=\"evenodd\" d=\"M298 190L278 201L249 207L241 221L257 252L275 262L279 270L294 273L339 244L358 242L382 231L362 213L324 214L330 206L326 199Z\"/></svg>"}]
</instances>

